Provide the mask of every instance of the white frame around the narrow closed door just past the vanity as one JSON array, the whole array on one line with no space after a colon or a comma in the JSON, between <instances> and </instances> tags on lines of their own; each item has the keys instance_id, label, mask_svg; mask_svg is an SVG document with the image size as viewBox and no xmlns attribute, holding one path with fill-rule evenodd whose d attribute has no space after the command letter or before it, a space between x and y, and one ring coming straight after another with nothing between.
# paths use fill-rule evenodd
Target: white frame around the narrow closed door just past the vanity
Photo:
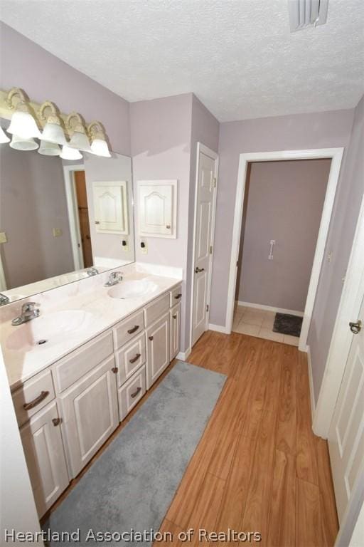
<instances>
[{"instance_id":1,"label":"white frame around the narrow closed door just past the vanity","mask_svg":"<svg viewBox=\"0 0 364 547\"><path fill-rule=\"evenodd\" d=\"M207 294L207 300L210 303L210 294L211 294L211 280L212 280L212 273L213 273L213 254L215 251L214 241L215 241L215 218L216 218L216 199L218 195L218 170L219 170L219 156L217 152L214 152L207 146L203 145L202 142L197 143L196 148L196 177L195 177L195 205L194 205L194 212L193 212L193 246L192 246L192 268L191 268L191 315L190 315L190 345L189 347L192 348L192 334L193 334L193 291L195 288L195 278L194 278L194 271L195 271L195 251L196 251L196 224L197 224L197 198L198 198L198 171L200 169L200 152L205 154L206 156L210 157L212 160L215 161L215 173L214 177L216 179L216 186L215 191L213 195L213 217L211 222L211 239L210 239L210 245L213 246L213 252L210 254L210 263L209 263L209 269L210 269L210 278L208 280L208 294ZM208 324L209 324L209 318L210 318L210 306L209 311L206 313L206 325L205 330L208 330Z\"/></svg>"}]
</instances>

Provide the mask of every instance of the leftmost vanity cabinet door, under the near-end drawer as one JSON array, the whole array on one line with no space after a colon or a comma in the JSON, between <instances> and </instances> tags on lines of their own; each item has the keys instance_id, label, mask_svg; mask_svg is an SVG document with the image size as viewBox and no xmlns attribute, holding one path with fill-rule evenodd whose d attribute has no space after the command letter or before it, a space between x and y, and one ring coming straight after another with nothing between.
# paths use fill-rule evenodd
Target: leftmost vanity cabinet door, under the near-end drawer
<instances>
[{"instance_id":1,"label":"leftmost vanity cabinet door, under the near-end drawer","mask_svg":"<svg viewBox=\"0 0 364 547\"><path fill-rule=\"evenodd\" d=\"M53 401L20 429L40 519L69 482L58 420L57 405Z\"/></svg>"}]
</instances>

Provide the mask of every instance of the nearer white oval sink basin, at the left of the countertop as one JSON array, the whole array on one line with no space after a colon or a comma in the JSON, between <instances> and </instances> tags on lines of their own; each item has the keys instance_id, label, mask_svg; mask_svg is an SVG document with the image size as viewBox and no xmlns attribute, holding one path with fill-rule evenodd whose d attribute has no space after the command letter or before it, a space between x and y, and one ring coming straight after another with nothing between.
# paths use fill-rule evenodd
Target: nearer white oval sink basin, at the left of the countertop
<instances>
[{"instance_id":1,"label":"nearer white oval sink basin, at the left of the countertop","mask_svg":"<svg viewBox=\"0 0 364 547\"><path fill-rule=\"evenodd\" d=\"M62 343L73 335L87 331L95 317L89 311L65 310L48 313L36 319L14 326L14 332L6 339L9 350L32 351Z\"/></svg>"}]
</instances>

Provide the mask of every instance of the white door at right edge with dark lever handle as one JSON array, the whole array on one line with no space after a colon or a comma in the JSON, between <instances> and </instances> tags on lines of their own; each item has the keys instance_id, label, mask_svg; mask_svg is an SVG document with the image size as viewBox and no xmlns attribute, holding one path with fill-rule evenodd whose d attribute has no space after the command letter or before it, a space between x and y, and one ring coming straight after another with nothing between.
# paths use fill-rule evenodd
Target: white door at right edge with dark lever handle
<instances>
[{"instance_id":1,"label":"white door at right edge with dark lever handle","mask_svg":"<svg viewBox=\"0 0 364 547\"><path fill-rule=\"evenodd\" d=\"M358 321L364 324L364 300ZM353 325L351 330L359 329ZM328 434L328 449L341 521L364 465L364 326L353 335Z\"/></svg>"}]
</instances>

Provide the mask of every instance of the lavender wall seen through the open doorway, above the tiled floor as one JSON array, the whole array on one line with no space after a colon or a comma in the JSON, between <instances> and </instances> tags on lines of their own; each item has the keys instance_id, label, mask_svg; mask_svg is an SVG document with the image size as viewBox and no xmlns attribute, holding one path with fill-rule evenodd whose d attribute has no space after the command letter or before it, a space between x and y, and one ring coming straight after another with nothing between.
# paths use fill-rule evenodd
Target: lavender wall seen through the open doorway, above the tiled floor
<instances>
[{"instance_id":1,"label":"lavender wall seen through the open doorway, above the tiled floor","mask_svg":"<svg viewBox=\"0 0 364 547\"><path fill-rule=\"evenodd\" d=\"M240 301L304 311L330 166L331 160L252 163Z\"/></svg>"}]
</instances>

